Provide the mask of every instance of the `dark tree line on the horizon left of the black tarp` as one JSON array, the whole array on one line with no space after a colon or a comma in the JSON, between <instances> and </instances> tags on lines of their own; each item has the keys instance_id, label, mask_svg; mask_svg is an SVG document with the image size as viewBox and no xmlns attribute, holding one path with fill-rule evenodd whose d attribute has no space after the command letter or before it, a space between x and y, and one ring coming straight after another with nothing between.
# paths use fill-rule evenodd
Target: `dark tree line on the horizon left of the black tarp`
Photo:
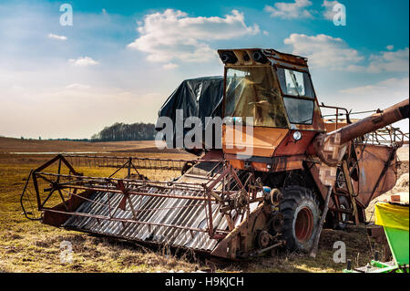
<instances>
[{"instance_id":1,"label":"dark tree line on the horizon left of the black tarp","mask_svg":"<svg viewBox=\"0 0 410 291\"><path fill-rule=\"evenodd\" d=\"M155 134L153 123L125 124L117 122L94 134L91 141L154 140Z\"/></svg>"}]
</instances>

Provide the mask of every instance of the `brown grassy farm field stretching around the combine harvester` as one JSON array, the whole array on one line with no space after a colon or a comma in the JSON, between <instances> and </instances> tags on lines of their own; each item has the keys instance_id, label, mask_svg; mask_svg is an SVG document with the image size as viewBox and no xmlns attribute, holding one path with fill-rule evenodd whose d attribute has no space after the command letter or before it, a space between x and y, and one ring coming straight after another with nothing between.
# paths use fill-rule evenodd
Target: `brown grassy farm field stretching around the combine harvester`
<instances>
[{"instance_id":1,"label":"brown grassy farm field stretching around the combine harvester","mask_svg":"<svg viewBox=\"0 0 410 291\"><path fill-rule=\"evenodd\" d=\"M68 232L29 221L22 213L19 194L31 168L45 160L44 155L15 155L9 152L127 152L152 148L151 141L83 143L72 141L12 140L0 138L0 272L194 272L208 269L203 257L174 254L168 249L149 249L138 244ZM408 172L408 148L407 172ZM138 156L189 159L178 152L138 152ZM402 160L403 161L403 160ZM403 169L402 169L403 171ZM407 188L408 189L408 188ZM72 264L60 263L60 243L73 244ZM302 254L281 253L241 263L218 265L217 272L341 272L345 265L333 262L333 244L346 244L353 266L366 265L374 250L382 246L370 239L363 226L346 231L325 229L316 259Z\"/></svg>"}]
</instances>

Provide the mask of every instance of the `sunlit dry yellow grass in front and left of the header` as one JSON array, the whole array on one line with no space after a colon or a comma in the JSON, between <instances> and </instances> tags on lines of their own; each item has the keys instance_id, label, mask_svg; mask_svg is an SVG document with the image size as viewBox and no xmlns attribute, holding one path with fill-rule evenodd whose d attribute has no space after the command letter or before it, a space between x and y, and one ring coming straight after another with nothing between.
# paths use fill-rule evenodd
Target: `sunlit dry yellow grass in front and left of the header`
<instances>
[{"instance_id":1,"label":"sunlit dry yellow grass in front and left of the header","mask_svg":"<svg viewBox=\"0 0 410 291\"><path fill-rule=\"evenodd\" d=\"M157 272L175 268L190 272L198 267L187 259L163 255L161 250L27 220L19 194L28 171L34 166L38 165L0 164L0 271ZM72 264L60 264L62 241L73 244Z\"/></svg>"}]
</instances>

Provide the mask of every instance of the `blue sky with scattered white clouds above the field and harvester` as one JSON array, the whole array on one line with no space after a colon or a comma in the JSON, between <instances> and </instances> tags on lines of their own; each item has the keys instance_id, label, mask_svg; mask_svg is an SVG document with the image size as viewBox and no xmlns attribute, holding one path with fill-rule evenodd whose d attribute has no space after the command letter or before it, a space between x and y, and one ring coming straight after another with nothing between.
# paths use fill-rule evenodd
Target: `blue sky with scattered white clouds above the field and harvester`
<instances>
[{"instance_id":1,"label":"blue sky with scattered white clouds above the field and harvester","mask_svg":"<svg viewBox=\"0 0 410 291\"><path fill-rule=\"evenodd\" d=\"M344 26L333 21L338 4ZM0 0L0 27L0 136L83 139L155 122L182 80L223 75L220 48L307 57L326 105L408 98L407 0ZM408 120L396 125L408 131Z\"/></svg>"}]
</instances>

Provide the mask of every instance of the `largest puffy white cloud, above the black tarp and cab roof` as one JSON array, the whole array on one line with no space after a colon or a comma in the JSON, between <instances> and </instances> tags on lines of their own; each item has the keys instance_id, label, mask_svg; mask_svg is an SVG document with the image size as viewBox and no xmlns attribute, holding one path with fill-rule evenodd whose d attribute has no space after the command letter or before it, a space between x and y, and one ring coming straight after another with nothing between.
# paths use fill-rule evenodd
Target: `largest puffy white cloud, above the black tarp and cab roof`
<instances>
[{"instance_id":1,"label":"largest puffy white cloud, above the black tarp and cab roof","mask_svg":"<svg viewBox=\"0 0 410 291\"><path fill-rule=\"evenodd\" d=\"M224 17L189 17L182 11L168 9L164 13L147 15L138 23L138 38L129 48L148 53L153 62L208 61L216 51L207 43L212 40L256 35L259 26L247 26L237 10Z\"/></svg>"}]
</instances>

